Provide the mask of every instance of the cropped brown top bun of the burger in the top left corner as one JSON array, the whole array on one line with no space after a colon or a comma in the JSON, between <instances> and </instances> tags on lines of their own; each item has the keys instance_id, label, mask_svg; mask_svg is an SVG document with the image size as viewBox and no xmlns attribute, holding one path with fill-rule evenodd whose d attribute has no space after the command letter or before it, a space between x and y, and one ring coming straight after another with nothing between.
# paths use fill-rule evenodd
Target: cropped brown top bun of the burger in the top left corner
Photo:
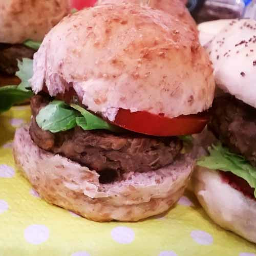
<instances>
[{"instance_id":1,"label":"cropped brown top bun of the burger in the top left corner","mask_svg":"<svg viewBox=\"0 0 256 256\"><path fill-rule=\"evenodd\" d=\"M4 0L0 3L0 42L41 41L70 11L68 0Z\"/></svg>"}]
</instances>

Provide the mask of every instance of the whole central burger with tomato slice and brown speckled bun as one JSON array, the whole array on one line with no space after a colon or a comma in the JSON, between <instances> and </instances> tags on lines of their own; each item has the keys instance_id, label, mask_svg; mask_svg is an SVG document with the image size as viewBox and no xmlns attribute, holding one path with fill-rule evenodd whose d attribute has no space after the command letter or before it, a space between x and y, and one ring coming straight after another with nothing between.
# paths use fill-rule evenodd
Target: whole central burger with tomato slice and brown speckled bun
<instances>
[{"instance_id":1,"label":"whole central burger with tomato slice and brown speckled bun","mask_svg":"<svg viewBox=\"0 0 256 256\"><path fill-rule=\"evenodd\" d=\"M183 194L214 98L208 55L188 25L106 4L65 17L34 55L32 120L14 158L40 196L94 221L137 221ZM198 114L199 113L199 114Z\"/></svg>"}]
</instances>

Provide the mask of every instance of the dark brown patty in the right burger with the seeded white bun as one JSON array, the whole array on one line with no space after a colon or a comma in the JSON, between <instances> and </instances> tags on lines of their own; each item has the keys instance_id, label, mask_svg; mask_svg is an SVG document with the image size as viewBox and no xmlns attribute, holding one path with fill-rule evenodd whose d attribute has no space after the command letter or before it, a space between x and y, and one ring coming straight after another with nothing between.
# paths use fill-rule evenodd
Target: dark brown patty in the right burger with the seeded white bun
<instances>
[{"instance_id":1,"label":"dark brown patty in the right burger with the seeded white bun","mask_svg":"<svg viewBox=\"0 0 256 256\"><path fill-rule=\"evenodd\" d=\"M256 167L256 109L229 94L212 103L208 129Z\"/></svg>"}]
</instances>

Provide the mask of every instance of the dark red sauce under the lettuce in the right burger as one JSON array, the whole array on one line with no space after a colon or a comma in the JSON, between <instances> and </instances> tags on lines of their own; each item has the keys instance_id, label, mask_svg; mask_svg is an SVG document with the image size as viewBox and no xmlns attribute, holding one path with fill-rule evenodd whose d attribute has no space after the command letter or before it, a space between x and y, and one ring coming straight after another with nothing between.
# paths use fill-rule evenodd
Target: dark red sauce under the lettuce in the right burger
<instances>
[{"instance_id":1,"label":"dark red sauce under the lettuce in the right burger","mask_svg":"<svg viewBox=\"0 0 256 256\"><path fill-rule=\"evenodd\" d=\"M249 183L238 177L237 175L232 174L231 172L219 171L221 174L222 181L229 184L234 189L242 192L246 197L256 201L254 197L254 188L250 187Z\"/></svg>"}]
</instances>

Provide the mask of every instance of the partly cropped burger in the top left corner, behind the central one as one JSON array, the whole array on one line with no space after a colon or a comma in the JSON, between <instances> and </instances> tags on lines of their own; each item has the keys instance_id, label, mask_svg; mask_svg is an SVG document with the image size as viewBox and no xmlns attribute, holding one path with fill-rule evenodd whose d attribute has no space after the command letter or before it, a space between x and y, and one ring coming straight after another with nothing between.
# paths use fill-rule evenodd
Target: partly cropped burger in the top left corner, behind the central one
<instances>
[{"instance_id":1,"label":"partly cropped burger in the top left corner, behind the central one","mask_svg":"<svg viewBox=\"0 0 256 256\"><path fill-rule=\"evenodd\" d=\"M1 1L0 73L14 75L17 59L33 58L46 33L69 11L68 0Z\"/></svg>"}]
</instances>

